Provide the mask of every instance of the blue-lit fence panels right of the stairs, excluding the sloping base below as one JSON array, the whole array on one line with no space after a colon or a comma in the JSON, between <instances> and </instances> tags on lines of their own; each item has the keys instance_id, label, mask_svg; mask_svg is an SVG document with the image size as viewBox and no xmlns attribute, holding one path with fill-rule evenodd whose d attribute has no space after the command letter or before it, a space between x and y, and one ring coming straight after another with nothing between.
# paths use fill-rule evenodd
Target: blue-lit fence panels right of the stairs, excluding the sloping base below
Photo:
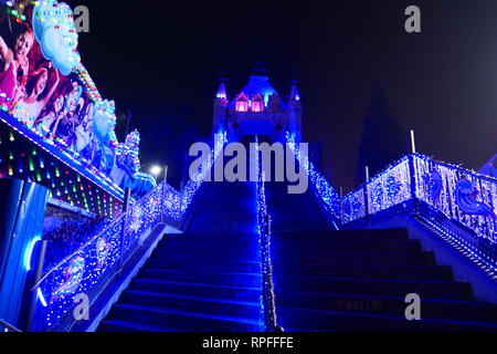
<instances>
[{"instance_id":1,"label":"blue-lit fence panels right of the stairs, excluding the sloping base below","mask_svg":"<svg viewBox=\"0 0 497 354\"><path fill-rule=\"evenodd\" d=\"M343 197L341 221L347 225L412 199L497 242L497 180L420 154Z\"/></svg>"}]
</instances>

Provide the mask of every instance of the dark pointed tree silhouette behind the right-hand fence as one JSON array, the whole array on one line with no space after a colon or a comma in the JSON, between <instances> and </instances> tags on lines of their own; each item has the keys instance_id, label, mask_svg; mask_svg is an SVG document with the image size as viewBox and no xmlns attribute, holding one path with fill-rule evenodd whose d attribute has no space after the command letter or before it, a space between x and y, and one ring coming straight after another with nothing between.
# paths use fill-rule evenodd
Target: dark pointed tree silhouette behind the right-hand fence
<instances>
[{"instance_id":1,"label":"dark pointed tree silhouette behind the right-hand fence","mask_svg":"<svg viewBox=\"0 0 497 354\"><path fill-rule=\"evenodd\" d=\"M359 145L359 183L364 181L366 166L374 176L406 153L408 142L395 116L390 111L378 83L371 91Z\"/></svg>"}]
</instances>

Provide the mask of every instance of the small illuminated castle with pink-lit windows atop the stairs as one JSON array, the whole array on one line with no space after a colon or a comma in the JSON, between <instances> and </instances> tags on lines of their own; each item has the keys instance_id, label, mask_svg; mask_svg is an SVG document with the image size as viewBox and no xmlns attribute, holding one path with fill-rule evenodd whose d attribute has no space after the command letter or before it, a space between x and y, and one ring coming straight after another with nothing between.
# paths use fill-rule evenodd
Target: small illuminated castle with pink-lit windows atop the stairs
<instances>
[{"instance_id":1,"label":"small illuminated castle with pink-lit windows atop the stairs","mask_svg":"<svg viewBox=\"0 0 497 354\"><path fill-rule=\"evenodd\" d=\"M246 136L265 136L272 142L285 142L289 132L302 140L302 103L297 82L290 82L285 102L269 82L264 64L256 63L248 83L230 101L226 87L220 83L214 100L213 133L226 133L229 142L242 142Z\"/></svg>"}]
</instances>

